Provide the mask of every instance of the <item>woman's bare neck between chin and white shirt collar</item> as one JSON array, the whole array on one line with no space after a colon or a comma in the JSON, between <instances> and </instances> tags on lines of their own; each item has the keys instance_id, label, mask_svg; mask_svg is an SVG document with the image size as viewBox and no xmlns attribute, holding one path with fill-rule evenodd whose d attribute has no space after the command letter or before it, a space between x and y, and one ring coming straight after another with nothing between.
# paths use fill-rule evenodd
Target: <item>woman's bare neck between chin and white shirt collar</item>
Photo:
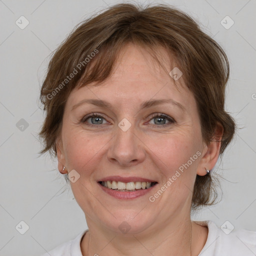
<instances>
[{"instance_id":1,"label":"woman's bare neck between chin and white shirt collar","mask_svg":"<svg viewBox=\"0 0 256 256\"><path fill-rule=\"evenodd\" d=\"M87 220L87 219L86 219ZM191 256L193 228L190 216L151 225L139 233L117 234L88 221L89 230L81 241L83 256L169 255ZM91 225L90 225L91 224ZM197 254L196 254L197 255Z\"/></svg>"}]
</instances>

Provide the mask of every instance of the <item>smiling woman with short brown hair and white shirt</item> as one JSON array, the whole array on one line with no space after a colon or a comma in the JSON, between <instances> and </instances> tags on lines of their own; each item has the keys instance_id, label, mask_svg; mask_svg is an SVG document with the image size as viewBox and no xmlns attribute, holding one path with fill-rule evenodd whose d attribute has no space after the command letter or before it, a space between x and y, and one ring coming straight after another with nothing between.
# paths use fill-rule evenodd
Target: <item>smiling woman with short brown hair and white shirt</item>
<instances>
[{"instance_id":1,"label":"smiling woman with short brown hair and white shirt","mask_svg":"<svg viewBox=\"0 0 256 256\"><path fill-rule=\"evenodd\" d=\"M174 8L118 4L81 23L49 63L40 136L88 230L45 255L256 253L256 232L190 219L214 202L210 170L235 132L228 75L220 46Z\"/></svg>"}]
</instances>

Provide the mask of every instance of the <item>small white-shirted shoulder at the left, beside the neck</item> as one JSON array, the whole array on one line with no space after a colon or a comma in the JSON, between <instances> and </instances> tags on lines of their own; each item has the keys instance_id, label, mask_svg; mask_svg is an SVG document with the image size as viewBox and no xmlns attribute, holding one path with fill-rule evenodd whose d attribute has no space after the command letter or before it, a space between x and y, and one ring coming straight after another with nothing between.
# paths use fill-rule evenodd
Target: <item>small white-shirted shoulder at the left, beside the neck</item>
<instances>
[{"instance_id":1,"label":"small white-shirted shoulder at the left, beside the neck","mask_svg":"<svg viewBox=\"0 0 256 256\"><path fill-rule=\"evenodd\" d=\"M47 251L41 256L82 256L81 249L80 249L80 241L83 234L86 232L82 231L79 233L74 239L69 241L63 242L54 249Z\"/></svg>"}]
</instances>

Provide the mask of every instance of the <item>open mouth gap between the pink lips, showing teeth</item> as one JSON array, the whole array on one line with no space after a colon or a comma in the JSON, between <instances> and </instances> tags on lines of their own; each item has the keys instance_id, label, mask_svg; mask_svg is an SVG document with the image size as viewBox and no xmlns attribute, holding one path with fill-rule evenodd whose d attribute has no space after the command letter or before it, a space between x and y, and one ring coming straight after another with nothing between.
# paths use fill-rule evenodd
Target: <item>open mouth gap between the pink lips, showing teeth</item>
<instances>
[{"instance_id":1,"label":"open mouth gap between the pink lips, showing teeth","mask_svg":"<svg viewBox=\"0 0 256 256\"><path fill-rule=\"evenodd\" d=\"M107 181L98 181L98 183L106 187L108 189L120 191L120 192L134 192L143 189L149 189L155 184L156 181L148 182L148 181L130 181L130 182L122 182L115 180L107 180Z\"/></svg>"}]
</instances>

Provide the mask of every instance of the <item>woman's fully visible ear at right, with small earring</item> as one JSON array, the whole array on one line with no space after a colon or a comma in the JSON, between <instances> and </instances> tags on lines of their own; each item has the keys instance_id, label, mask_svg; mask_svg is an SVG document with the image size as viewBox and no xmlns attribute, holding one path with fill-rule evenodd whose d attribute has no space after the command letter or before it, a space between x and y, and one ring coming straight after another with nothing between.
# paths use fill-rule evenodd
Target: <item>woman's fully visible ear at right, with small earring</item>
<instances>
[{"instance_id":1,"label":"woman's fully visible ear at right, with small earring","mask_svg":"<svg viewBox=\"0 0 256 256\"><path fill-rule=\"evenodd\" d=\"M223 130L223 126L217 123L212 140L208 145L204 145L203 147L202 158L200 159L196 172L197 175L204 176L207 174L205 169L211 170L215 166L219 156Z\"/></svg>"}]
</instances>

